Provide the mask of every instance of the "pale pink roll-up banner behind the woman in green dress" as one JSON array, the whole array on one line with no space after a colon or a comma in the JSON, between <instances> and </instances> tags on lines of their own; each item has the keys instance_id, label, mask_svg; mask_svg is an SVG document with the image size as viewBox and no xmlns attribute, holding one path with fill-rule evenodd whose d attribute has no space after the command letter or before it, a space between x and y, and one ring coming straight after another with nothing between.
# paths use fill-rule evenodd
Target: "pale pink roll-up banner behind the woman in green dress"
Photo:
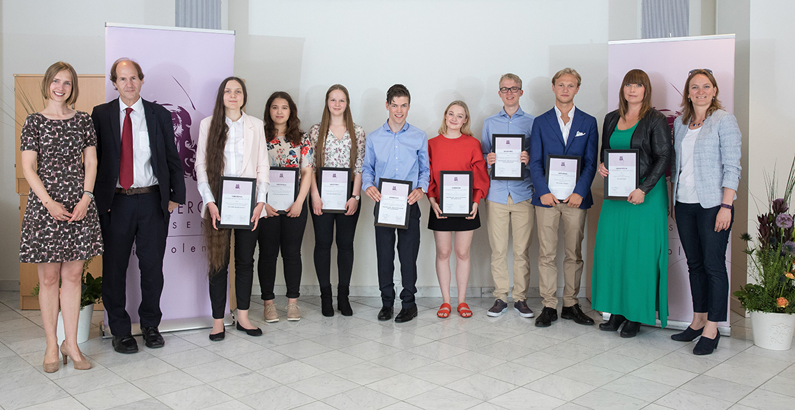
<instances>
[{"instance_id":1,"label":"pale pink roll-up banner behind the woman in green dress","mask_svg":"<svg viewBox=\"0 0 795 410\"><path fill-rule=\"evenodd\" d=\"M707 68L715 75L715 81L719 86L718 98L723 108L730 113L734 112L734 34L610 41L607 52L608 110L619 107L619 90L626 72L640 68L651 79L652 106L668 117L669 126L673 130L673 121L681 114L682 95L686 92L684 82L688 79L690 70ZM688 265L679 240L677 224L670 216L668 222L668 326L673 329L684 329L692 320ZM726 251L726 267L731 279L731 236ZM726 298L728 300L729 295L726 295ZM657 325L659 324L657 321ZM729 334L728 321L719 323L718 327L721 334Z\"/></svg>"}]
</instances>

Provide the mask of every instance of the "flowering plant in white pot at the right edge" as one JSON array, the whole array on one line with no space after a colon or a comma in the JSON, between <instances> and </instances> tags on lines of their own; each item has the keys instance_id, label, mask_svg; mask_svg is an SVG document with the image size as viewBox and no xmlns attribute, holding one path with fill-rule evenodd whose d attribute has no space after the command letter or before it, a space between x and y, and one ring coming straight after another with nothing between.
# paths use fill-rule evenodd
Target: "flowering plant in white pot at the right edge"
<instances>
[{"instance_id":1,"label":"flowering plant in white pot at the right edge","mask_svg":"<svg viewBox=\"0 0 795 410\"><path fill-rule=\"evenodd\" d=\"M795 218L787 212L795 187L795 160L783 198L773 199L775 175L766 180L769 206L766 213L758 215L756 241L749 234L740 235L747 242L745 253L755 283L741 287L734 295L750 311L754 344L770 350L789 350L795 331Z\"/></svg>"}]
</instances>

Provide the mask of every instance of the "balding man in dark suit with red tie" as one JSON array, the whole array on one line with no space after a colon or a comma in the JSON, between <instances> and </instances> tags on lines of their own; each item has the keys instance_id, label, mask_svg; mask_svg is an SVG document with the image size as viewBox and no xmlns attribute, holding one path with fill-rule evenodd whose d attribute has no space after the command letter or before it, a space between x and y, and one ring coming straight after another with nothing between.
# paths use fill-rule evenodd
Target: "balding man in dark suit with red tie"
<instances>
[{"instance_id":1,"label":"balding man in dark suit with red tie","mask_svg":"<svg viewBox=\"0 0 795 410\"><path fill-rule=\"evenodd\" d=\"M98 172L94 195L103 254L103 303L119 353L135 353L126 306L126 273L135 242L141 269L141 331L147 347L162 347L163 256L169 216L185 202L185 182L174 144L171 113L141 98L138 63L119 59L111 67L118 99L94 107Z\"/></svg>"}]
</instances>

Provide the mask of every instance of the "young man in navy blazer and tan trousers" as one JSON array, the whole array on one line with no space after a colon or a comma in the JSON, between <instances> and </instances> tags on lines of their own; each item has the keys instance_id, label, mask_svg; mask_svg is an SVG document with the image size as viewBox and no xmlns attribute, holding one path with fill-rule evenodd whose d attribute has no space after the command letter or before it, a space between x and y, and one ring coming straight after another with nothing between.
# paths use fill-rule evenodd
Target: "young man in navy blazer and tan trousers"
<instances>
[{"instance_id":1,"label":"young man in navy blazer and tan trousers","mask_svg":"<svg viewBox=\"0 0 795 410\"><path fill-rule=\"evenodd\" d=\"M582 242L585 215L593 204L591 182L594 180L599 148L596 118L574 107L574 96L580 91L580 74L564 68L552 79L555 106L539 115L530 131L530 176L533 179L538 231L538 287L544 309L536 318L537 327L547 327L557 320L557 239L563 220L565 258L563 310L560 317L576 323L592 325L594 320L584 314L577 300L583 274ZM546 180L548 155L580 158L580 177L574 191L565 198L556 198ZM558 195L563 196L563 195Z\"/></svg>"}]
</instances>

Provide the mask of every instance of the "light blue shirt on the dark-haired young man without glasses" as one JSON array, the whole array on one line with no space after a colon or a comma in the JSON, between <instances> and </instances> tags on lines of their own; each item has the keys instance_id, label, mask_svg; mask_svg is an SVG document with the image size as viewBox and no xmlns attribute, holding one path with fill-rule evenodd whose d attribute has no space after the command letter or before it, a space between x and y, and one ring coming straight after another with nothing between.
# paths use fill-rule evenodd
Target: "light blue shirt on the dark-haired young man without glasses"
<instances>
[{"instance_id":1,"label":"light blue shirt on the dark-haired young man without glasses","mask_svg":"<svg viewBox=\"0 0 795 410\"><path fill-rule=\"evenodd\" d=\"M529 132L529 131L528 131ZM378 180L409 180L412 189L428 192L431 168L428 135L406 122L397 133L388 122L367 135L362 165L362 189L378 188Z\"/></svg>"}]
</instances>

